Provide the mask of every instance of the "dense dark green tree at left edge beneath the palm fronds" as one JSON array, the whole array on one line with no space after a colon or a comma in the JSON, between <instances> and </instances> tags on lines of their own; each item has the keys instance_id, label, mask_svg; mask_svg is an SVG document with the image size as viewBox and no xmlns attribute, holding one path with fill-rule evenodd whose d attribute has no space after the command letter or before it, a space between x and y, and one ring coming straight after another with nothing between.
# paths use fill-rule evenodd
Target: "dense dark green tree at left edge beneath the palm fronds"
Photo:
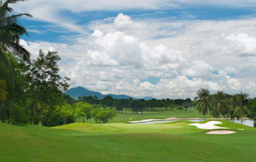
<instances>
[{"instance_id":1,"label":"dense dark green tree at left edge beneath the palm fronds","mask_svg":"<svg viewBox=\"0 0 256 162\"><path fill-rule=\"evenodd\" d=\"M1 121L4 123L6 120L9 120L10 123L14 121L12 113L15 113L12 110L17 110L15 103L19 102L20 107L25 107L27 97L24 95L26 92L26 87L29 82L26 80L25 73L27 72L27 66L23 61L20 61L14 55L9 55L4 53L8 62L8 66L13 67L13 70L10 71L9 68L6 68L6 62L0 61L0 80L4 79L6 81L6 93L8 97L5 97L4 101L1 101L0 112L1 112ZM1 55L0 55L1 57ZM1 60L1 58L0 58ZM20 120L21 121L21 120Z\"/></svg>"}]
</instances>

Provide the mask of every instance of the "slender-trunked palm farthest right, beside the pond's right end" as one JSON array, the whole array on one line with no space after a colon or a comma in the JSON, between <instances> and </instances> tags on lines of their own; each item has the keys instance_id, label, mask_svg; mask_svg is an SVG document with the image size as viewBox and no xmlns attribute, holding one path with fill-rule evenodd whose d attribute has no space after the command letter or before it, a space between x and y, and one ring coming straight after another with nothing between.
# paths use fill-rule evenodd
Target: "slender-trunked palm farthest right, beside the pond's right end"
<instances>
[{"instance_id":1,"label":"slender-trunked palm farthest right, beside the pond's right end","mask_svg":"<svg viewBox=\"0 0 256 162\"><path fill-rule=\"evenodd\" d=\"M242 124L242 117L247 113L247 105L248 105L248 96L246 93L237 94L237 107L235 110L236 116L238 119L241 119Z\"/></svg>"}]
</instances>

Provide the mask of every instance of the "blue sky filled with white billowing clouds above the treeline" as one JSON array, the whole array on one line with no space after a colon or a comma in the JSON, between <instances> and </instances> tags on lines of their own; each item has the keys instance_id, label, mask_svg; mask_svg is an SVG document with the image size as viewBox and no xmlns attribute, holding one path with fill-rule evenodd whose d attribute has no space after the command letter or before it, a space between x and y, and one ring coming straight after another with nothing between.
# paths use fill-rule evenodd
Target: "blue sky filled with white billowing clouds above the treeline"
<instances>
[{"instance_id":1,"label":"blue sky filled with white billowing clouds above the treeline","mask_svg":"<svg viewBox=\"0 0 256 162\"><path fill-rule=\"evenodd\" d=\"M134 97L256 96L255 0L28 0L32 53L58 51L71 87Z\"/></svg>"}]
</instances>

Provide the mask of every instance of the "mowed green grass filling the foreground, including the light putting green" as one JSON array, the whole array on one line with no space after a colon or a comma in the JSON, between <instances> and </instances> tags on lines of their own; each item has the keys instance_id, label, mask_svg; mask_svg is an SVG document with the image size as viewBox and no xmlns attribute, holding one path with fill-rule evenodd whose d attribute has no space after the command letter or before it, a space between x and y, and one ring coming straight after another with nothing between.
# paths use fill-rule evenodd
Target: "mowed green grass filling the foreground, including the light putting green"
<instances>
[{"instance_id":1,"label":"mowed green grass filling the foreground, including the light putting green","mask_svg":"<svg viewBox=\"0 0 256 162\"><path fill-rule=\"evenodd\" d=\"M0 124L0 161L255 161L256 129L221 121L220 126L236 134L206 135L208 130L190 126L189 121L54 128Z\"/></svg>"}]
</instances>

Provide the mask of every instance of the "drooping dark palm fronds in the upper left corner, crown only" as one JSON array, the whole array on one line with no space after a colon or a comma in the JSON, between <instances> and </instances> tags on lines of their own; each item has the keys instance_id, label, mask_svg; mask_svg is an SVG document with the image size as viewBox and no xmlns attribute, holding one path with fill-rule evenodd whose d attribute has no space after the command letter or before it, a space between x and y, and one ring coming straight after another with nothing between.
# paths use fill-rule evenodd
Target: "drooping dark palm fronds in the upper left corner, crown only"
<instances>
[{"instance_id":1,"label":"drooping dark palm fronds in the upper left corner, crown only","mask_svg":"<svg viewBox=\"0 0 256 162\"><path fill-rule=\"evenodd\" d=\"M0 1L0 55L4 51L9 51L20 56L26 62L30 62L30 53L20 45L20 36L27 34L26 28L20 25L20 16L32 17L30 14L12 14L13 9L9 7L11 3L24 0Z\"/></svg>"}]
</instances>

